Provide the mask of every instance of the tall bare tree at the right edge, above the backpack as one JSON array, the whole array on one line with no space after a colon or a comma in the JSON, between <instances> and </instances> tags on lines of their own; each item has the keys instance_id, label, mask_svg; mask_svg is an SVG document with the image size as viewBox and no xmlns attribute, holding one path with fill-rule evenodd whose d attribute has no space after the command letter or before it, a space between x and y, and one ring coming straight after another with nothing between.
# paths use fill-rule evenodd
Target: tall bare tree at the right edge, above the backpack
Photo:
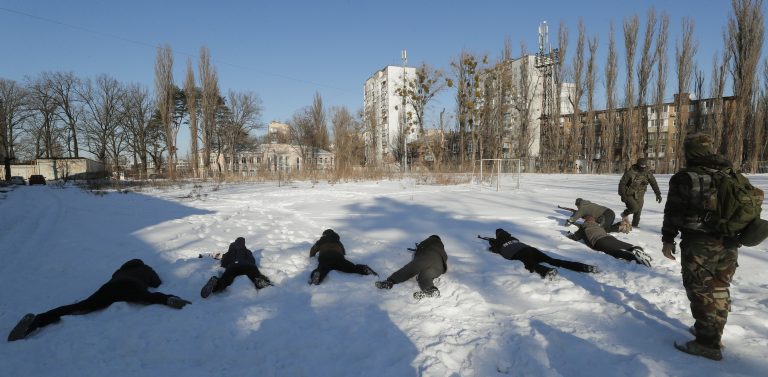
<instances>
[{"instance_id":1,"label":"tall bare tree at the right edge, above the backpack","mask_svg":"<svg viewBox=\"0 0 768 377\"><path fill-rule=\"evenodd\" d=\"M753 100L757 68L765 39L763 0L731 0L733 14L728 20L728 48L731 57L733 93L736 96L734 122L726 129L727 157L736 167L757 169L759 143L755 130Z\"/></svg>"}]
</instances>

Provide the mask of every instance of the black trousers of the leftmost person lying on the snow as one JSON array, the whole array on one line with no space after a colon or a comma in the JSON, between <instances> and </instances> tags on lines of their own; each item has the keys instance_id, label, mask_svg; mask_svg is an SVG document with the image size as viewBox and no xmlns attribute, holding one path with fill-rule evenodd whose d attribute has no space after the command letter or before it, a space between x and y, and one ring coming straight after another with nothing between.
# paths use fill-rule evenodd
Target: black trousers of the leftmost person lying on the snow
<instances>
[{"instance_id":1,"label":"black trousers of the leftmost person lying on the snow","mask_svg":"<svg viewBox=\"0 0 768 377\"><path fill-rule=\"evenodd\" d=\"M61 316L86 314L105 309L118 301L165 304L170 295L160 292L149 292L146 285L134 279L113 279L102 285L96 292L85 300L71 305L59 306L35 316L29 331L48 326L61 320Z\"/></svg>"}]
</instances>

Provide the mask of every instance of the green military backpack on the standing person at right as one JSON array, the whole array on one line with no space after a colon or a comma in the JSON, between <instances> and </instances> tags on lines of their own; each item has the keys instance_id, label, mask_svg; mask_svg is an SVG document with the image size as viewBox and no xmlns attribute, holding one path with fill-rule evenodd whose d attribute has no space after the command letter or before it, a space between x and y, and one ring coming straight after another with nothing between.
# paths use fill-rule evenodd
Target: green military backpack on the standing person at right
<instances>
[{"instance_id":1,"label":"green military backpack on the standing person at right","mask_svg":"<svg viewBox=\"0 0 768 377\"><path fill-rule=\"evenodd\" d=\"M691 180L688 207L691 212L686 216L685 228L737 238L753 225L752 232L766 234L752 234L750 239L757 236L762 242L768 236L763 230L765 227L753 224L765 221L760 219L763 191L752 186L747 177L731 168L718 170L701 166L685 173Z\"/></svg>"}]
</instances>

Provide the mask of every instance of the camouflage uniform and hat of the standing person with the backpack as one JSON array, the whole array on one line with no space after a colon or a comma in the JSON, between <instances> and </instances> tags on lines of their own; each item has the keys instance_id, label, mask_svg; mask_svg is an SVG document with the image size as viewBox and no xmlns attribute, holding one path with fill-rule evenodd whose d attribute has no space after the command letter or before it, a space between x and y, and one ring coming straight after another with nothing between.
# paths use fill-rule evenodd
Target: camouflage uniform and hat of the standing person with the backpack
<instances>
[{"instance_id":1,"label":"camouflage uniform and hat of the standing person with the backpack","mask_svg":"<svg viewBox=\"0 0 768 377\"><path fill-rule=\"evenodd\" d=\"M700 210L696 208L702 208L702 203L694 203L700 199L691 193L687 169L697 166L722 169L731 165L712 152L707 140L708 136L702 134L686 138L687 167L669 180L662 241L674 244L678 232L681 234L683 286L696 320L695 343L719 355L720 339L731 309L728 287L736 272L739 244L735 239L707 231L701 221L696 220L700 217L697 212Z\"/></svg>"}]
</instances>

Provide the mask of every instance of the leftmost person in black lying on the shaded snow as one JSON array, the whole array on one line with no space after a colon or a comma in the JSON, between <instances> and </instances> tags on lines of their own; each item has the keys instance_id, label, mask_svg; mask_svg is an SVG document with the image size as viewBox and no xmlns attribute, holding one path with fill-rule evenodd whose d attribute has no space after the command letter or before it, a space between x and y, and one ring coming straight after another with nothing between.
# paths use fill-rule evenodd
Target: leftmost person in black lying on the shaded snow
<instances>
[{"instance_id":1,"label":"leftmost person in black lying on the shaded snow","mask_svg":"<svg viewBox=\"0 0 768 377\"><path fill-rule=\"evenodd\" d=\"M161 304L175 309L190 304L177 296L148 290L149 287L159 287L161 283L160 277L152 267L144 264L141 259L131 259L112 274L112 279L85 300L41 314L26 314L11 330L8 341L24 339L41 327L59 322L62 316L94 312L118 301L145 305Z\"/></svg>"}]
</instances>

